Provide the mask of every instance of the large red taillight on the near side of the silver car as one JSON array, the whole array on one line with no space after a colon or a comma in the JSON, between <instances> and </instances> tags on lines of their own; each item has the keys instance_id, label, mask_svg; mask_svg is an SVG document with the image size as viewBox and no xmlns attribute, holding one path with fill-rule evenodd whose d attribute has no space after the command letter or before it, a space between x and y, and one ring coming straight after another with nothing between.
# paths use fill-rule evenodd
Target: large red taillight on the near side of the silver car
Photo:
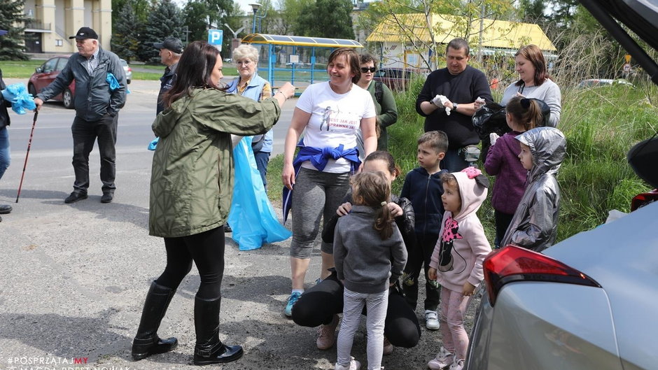
<instances>
[{"instance_id":1,"label":"large red taillight on the near side of the silver car","mask_svg":"<svg viewBox=\"0 0 658 370\"><path fill-rule=\"evenodd\" d=\"M491 305L496 303L498 292L514 281L545 281L601 287L584 273L526 248L506 246L484 259L484 280Z\"/></svg>"}]
</instances>

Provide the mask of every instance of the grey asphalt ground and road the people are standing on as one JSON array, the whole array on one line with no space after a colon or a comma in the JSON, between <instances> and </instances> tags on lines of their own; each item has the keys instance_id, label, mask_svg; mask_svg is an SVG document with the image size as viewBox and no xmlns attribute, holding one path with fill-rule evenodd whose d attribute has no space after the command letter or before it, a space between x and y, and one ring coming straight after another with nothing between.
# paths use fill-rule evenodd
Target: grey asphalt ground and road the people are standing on
<instances>
[{"instance_id":1,"label":"grey asphalt ground and road the people are standing on","mask_svg":"<svg viewBox=\"0 0 658 370\"><path fill-rule=\"evenodd\" d=\"M162 239L148 236L147 228L152 152L146 145L153 136L157 84L136 80L130 85L132 94L119 118L117 190L111 204L99 202L95 148L89 199L64 204L73 183L73 111L57 103L45 104L38 115L20 201L14 203L33 115L10 113L13 162L0 181L0 203L14 209L0 222L0 369L198 369L191 364L199 284L195 268L159 331L177 336L179 347L130 360L148 285L165 266ZM282 150L294 104L288 101L276 126L276 152ZM227 241L220 336L244 346L245 355L220 368L333 369L335 347L318 350L316 329L298 327L281 313L290 294L289 240L251 251ZM307 285L318 277L319 262L318 256L311 259ZM417 313L421 318L421 308ZM396 348L384 366L425 369L439 346L440 334L423 328L418 346ZM365 362L363 327L352 355ZM74 358L86 362L74 364Z\"/></svg>"}]
</instances>

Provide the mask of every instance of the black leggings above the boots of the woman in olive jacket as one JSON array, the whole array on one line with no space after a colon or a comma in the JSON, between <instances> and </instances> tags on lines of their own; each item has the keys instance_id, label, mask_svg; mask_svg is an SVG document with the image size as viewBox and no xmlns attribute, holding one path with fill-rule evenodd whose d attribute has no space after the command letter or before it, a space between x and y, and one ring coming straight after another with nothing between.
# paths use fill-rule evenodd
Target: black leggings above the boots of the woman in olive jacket
<instances>
[{"instance_id":1,"label":"black leggings above the boots of the woman in olive jacket","mask_svg":"<svg viewBox=\"0 0 658 370\"><path fill-rule=\"evenodd\" d=\"M224 227L190 236L165 238L165 249L167 266L156 283L176 290L194 261L201 278L197 297L220 297L224 277Z\"/></svg>"}]
</instances>

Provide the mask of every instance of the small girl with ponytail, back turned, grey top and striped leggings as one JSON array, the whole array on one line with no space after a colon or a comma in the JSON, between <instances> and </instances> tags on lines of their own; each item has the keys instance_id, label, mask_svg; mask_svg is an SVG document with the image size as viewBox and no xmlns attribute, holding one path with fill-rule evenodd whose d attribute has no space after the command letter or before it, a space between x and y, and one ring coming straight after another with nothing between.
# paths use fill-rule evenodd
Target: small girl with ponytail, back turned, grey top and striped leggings
<instances>
[{"instance_id":1,"label":"small girl with ponytail, back turned, grey top and striped leggings","mask_svg":"<svg viewBox=\"0 0 658 370\"><path fill-rule=\"evenodd\" d=\"M384 173L358 173L351 182L352 210L339 218L334 233L336 272L345 287L335 369L360 368L359 362L350 357L350 352L365 305L367 368L379 370L388 287L402 275L407 263L407 248L388 209L391 185Z\"/></svg>"}]
</instances>

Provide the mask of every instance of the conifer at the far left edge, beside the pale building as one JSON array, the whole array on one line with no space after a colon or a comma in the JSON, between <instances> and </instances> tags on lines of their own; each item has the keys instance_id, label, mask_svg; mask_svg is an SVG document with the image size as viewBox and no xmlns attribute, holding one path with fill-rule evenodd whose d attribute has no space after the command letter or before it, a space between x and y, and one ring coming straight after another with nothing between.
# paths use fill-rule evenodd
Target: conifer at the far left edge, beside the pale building
<instances>
[{"instance_id":1,"label":"conifer at the far left edge, beside the pale building","mask_svg":"<svg viewBox=\"0 0 658 370\"><path fill-rule=\"evenodd\" d=\"M0 29L7 34L0 36L0 60L27 60L25 54L25 27L15 27L15 24L25 22L23 7L25 0L0 1Z\"/></svg>"}]
</instances>

